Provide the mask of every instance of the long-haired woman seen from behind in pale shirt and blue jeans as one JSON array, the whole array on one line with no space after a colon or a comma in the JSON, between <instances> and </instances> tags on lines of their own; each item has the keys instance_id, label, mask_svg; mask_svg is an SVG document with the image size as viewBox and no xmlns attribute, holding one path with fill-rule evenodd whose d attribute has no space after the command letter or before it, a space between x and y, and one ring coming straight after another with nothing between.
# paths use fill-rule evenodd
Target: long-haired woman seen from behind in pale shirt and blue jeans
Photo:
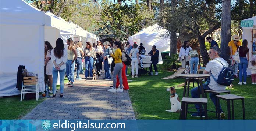
<instances>
[{"instance_id":1,"label":"long-haired woman seen from behind in pale shirt and blue jeans","mask_svg":"<svg viewBox=\"0 0 256 131\"><path fill-rule=\"evenodd\" d=\"M53 98L56 97L56 85L58 73L60 72L60 97L65 97L64 91L64 78L66 73L66 62L68 59L68 52L64 48L63 40L58 38L56 47L51 50L51 61L53 61Z\"/></svg>"}]
</instances>

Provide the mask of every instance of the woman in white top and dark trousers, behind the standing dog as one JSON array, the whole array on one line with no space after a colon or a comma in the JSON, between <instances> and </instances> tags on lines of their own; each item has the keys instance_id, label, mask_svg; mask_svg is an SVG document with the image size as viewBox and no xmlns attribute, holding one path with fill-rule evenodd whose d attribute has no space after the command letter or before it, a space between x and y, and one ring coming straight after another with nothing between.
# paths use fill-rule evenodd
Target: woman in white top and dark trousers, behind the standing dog
<instances>
[{"instance_id":1,"label":"woman in white top and dark trousers, behind the standing dog","mask_svg":"<svg viewBox=\"0 0 256 131\"><path fill-rule=\"evenodd\" d=\"M97 57L97 60L96 60L96 69L97 71L100 71L102 70L102 62L103 62L103 53L104 53L104 47L103 47L103 44L101 41L97 41L97 44L95 46L95 51L96 51L96 57Z\"/></svg>"}]
</instances>

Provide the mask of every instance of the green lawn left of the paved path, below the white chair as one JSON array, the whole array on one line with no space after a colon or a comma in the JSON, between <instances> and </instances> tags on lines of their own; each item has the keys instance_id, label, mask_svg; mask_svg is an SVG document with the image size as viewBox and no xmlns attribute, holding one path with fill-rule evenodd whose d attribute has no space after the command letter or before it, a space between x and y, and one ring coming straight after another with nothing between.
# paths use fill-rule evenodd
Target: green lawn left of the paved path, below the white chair
<instances>
[{"instance_id":1,"label":"green lawn left of the paved path, below the white chair","mask_svg":"<svg viewBox=\"0 0 256 131\"><path fill-rule=\"evenodd\" d=\"M68 82L67 78L65 78L65 83L66 82ZM57 89L60 89L60 85L57 85ZM21 119L45 100L45 98L38 99L38 101L35 99L24 99L21 102L20 98L20 95L0 98L0 120Z\"/></svg>"}]
</instances>

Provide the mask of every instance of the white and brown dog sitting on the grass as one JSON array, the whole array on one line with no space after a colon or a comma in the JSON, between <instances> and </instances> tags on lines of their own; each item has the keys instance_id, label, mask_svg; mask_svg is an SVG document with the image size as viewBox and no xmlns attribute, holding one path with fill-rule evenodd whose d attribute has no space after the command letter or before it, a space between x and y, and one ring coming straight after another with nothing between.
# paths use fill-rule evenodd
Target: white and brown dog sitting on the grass
<instances>
[{"instance_id":1,"label":"white and brown dog sitting on the grass","mask_svg":"<svg viewBox=\"0 0 256 131\"><path fill-rule=\"evenodd\" d=\"M167 88L166 91L170 91L170 102L171 109L166 110L167 112L180 112L181 110L181 101L179 100L178 94L176 94L176 90L174 87Z\"/></svg>"}]
</instances>

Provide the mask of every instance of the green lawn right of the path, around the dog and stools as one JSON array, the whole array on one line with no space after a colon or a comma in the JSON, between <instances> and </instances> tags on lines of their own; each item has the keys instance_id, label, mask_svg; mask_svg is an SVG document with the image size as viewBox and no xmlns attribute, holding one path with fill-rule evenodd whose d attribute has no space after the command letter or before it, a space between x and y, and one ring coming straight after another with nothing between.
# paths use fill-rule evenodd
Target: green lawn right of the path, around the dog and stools
<instances>
[{"instance_id":1,"label":"green lawn right of the path, around the dog and stools","mask_svg":"<svg viewBox=\"0 0 256 131\"><path fill-rule=\"evenodd\" d=\"M158 65L160 67L160 65ZM129 70L128 70L129 72ZM136 119L179 119L179 113L166 112L170 109L170 92L166 91L167 87L177 86L185 82L185 79L175 78L170 80L161 79L169 76L174 72L167 72L159 68L158 76L142 75L139 78L131 78L128 76L129 81L129 95L132 101ZM238 85L238 78L233 82L234 88L227 89L231 91L231 94L245 97L245 117L246 119L256 119L256 85L252 85L251 78L247 79L247 85ZM183 87L177 88L177 94L182 99ZM191 90L191 89L190 89ZM214 111L215 107L213 102L208 97L207 108ZM227 116L227 103L224 100L220 100L224 113ZM189 104L194 107L194 105ZM235 119L243 119L242 117L242 100L234 101ZM196 111L190 109L189 111ZM208 112L209 119L216 119L215 113ZM227 118L227 117L226 117ZM200 119L200 117L191 117L188 113L187 119Z\"/></svg>"}]
</instances>

